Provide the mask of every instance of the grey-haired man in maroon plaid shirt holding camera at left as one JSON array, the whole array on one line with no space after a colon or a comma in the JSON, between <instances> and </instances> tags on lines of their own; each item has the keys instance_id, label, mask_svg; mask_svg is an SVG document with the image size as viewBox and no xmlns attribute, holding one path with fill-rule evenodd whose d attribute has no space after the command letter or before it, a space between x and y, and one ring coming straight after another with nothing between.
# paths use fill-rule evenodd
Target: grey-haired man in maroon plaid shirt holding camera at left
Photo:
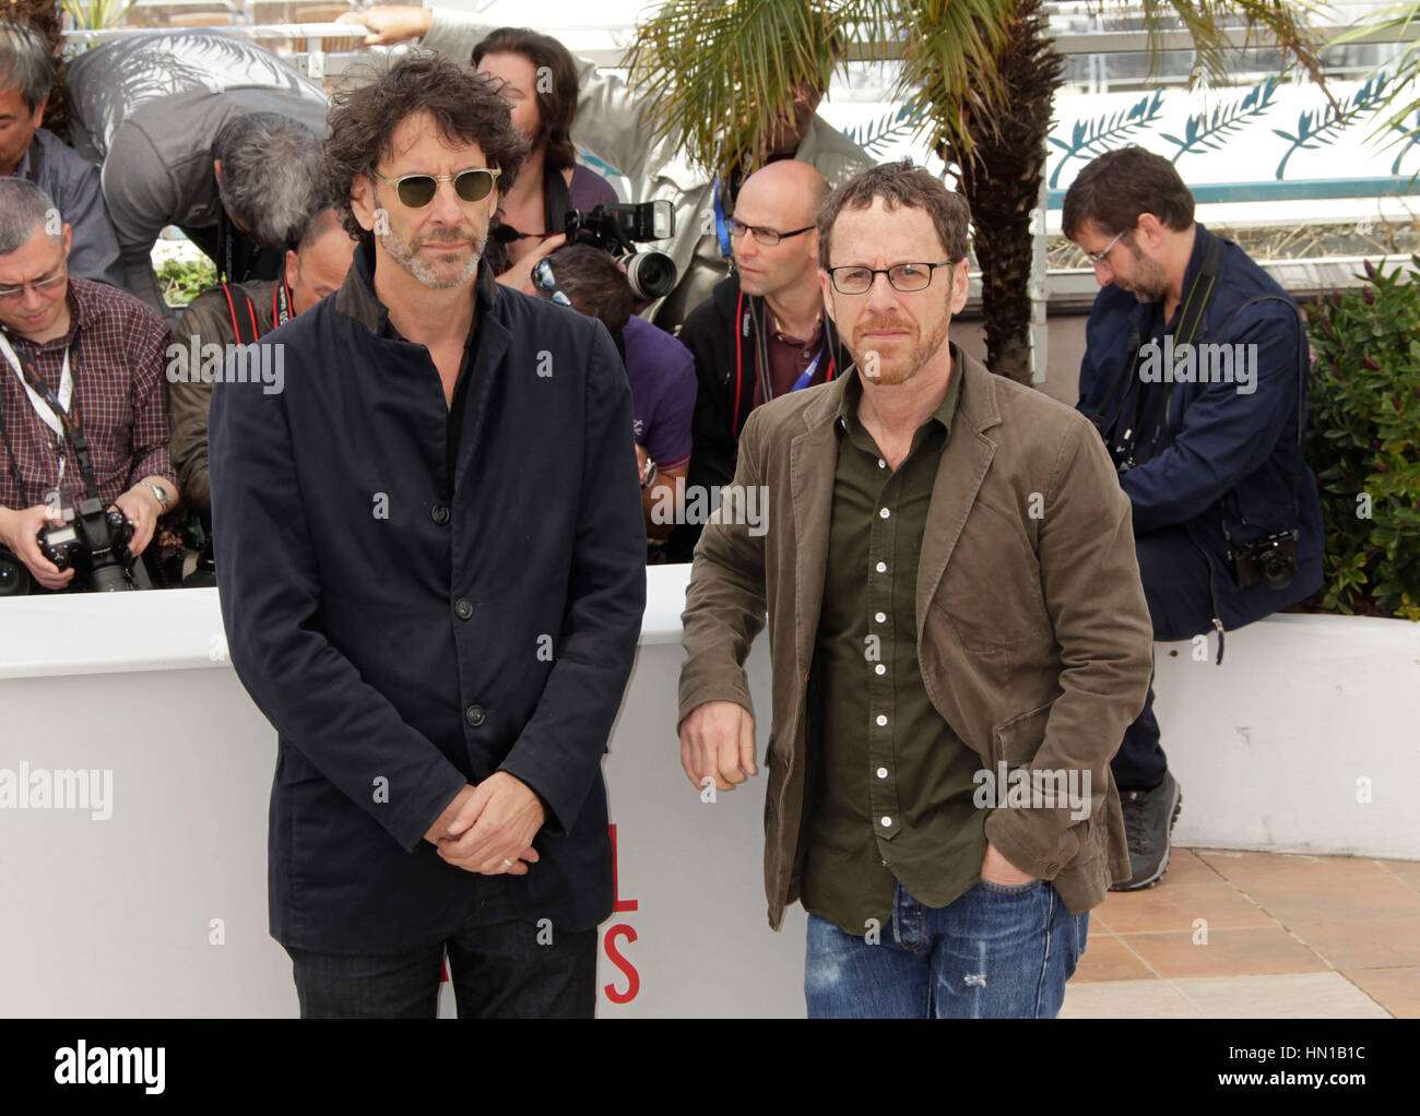
<instances>
[{"instance_id":1,"label":"grey-haired man in maroon plaid shirt holding camera at left","mask_svg":"<svg viewBox=\"0 0 1420 1116\"><path fill-rule=\"evenodd\" d=\"M133 524L136 555L178 503L168 457L168 327L131 294L68 274L71 230L38 186L0 179L0 542L45 589L62 574L36 535L85 494L47 386L82 429L99 496Z\"/></svg>"}]
</instances>

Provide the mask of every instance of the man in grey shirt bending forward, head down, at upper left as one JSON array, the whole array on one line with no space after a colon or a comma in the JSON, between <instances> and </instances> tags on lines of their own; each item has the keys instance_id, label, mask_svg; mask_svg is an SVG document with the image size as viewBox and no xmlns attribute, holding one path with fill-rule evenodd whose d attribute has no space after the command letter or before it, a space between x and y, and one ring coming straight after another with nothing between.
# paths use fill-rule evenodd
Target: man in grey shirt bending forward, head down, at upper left
<instances>
[{"instance_id":1,"label":"man in grey shirt bending forward, head down, at upper left","mask_svg":"<svg viewBox=\"0 0 1420 1116\"><path fill-rule=\"evenodd\" d=\"M219 31L126 35L70 65L70 131L104 165L126 285L169 322L152 250L176 224L222 281L274 280L318 200L321 88Z\"/></svg>"}]
</instances>

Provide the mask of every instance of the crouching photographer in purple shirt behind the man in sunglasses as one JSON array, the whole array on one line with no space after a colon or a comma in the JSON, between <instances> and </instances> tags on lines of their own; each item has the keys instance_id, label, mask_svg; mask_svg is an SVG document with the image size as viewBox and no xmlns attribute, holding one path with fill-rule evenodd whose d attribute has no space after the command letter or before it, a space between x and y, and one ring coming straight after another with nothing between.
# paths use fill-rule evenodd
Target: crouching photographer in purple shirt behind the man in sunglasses
<instances>
[{"instance_id":1,"label":"crouching photographer in purple shirt behind the man in sunglasses","mask_svg":"<svg viewBox=\"0 0 1420 1116\"><path fill-rule=\"evenodd\" d=\"M632 315L626 275L605 251L568 244L532 273L534 290L548 301L565 297L574 310L601 319L616 342L630 381L636 430L636 470L650 559L665 561L663 542L682 520L690 470L690 416L696 372L690 351L665 329Z\"/></svg>"}]
</instances>

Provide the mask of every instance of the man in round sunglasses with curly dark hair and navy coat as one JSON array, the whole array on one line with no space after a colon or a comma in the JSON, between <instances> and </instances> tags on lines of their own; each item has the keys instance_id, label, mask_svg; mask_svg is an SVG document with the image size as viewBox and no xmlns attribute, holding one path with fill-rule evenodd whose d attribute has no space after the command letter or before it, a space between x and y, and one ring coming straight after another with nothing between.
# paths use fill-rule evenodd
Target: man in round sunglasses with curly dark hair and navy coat
<instances>
[{"instance_id":1,"label":"man in round sunglasses with curly dark hair and navy coat","mask_svg":"<svg viewBox=\"0 0 1420 1116\"><path fill-rule=\"evenodd\" d=\"M494 88L432 55L345 97L345 284L213 393L223 620L280 737L271 933L302 1017L430 1017L446 951L462 1017L594 1012L645 532L605 328L480 258L524 155Z\"/></svg>"}]
</instances>

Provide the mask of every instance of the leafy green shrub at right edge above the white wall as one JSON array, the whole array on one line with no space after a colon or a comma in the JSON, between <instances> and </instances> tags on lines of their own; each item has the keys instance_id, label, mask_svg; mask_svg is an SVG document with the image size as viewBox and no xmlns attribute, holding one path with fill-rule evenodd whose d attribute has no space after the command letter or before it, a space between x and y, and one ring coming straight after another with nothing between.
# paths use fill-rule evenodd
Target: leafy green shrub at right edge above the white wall
<instances>
[{"instance_id":1,"label":"leafy green shrub at right edge above the white wall","mask_svg":"<svg viewBox=\"0 0 1420 1116\"><path fill-rule=\"evenodd\" d=\"M1420 620L1420 256L1306 307L1306 460L1322 488L1319 606ZM1315 599L1314 599L1315 601Z\"/></svg>"}]
</instances>

